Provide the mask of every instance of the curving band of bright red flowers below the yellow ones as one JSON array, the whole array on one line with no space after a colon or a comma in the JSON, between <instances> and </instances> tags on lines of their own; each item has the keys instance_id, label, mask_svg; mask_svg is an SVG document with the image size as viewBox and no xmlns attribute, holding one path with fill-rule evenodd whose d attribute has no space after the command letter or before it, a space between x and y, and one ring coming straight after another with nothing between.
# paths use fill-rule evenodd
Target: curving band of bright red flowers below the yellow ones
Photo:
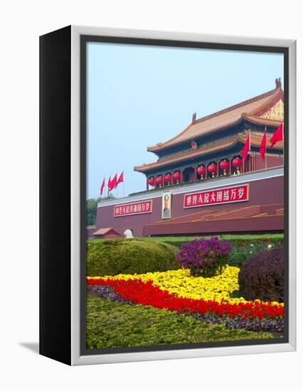
<instances>
[{"instance_id":1,"label":"curving band of bright red flowers below the yellow ones","mask_svg":"<svg viewBox=\"0 0 303 391\"><path fill-rule=\"evenodd\" d=\"M109 285L127 301L133 301L144 306L154 306L158 309L169 309L178 312L196 314L216 314L235 318L276 318L284 317L284 306L258 301L250 303L230 304L223 300L218 303L211 300L185 299L154 286L151 281L141 279L87 279L90 285Z\"/></svg>"}]
</instances>

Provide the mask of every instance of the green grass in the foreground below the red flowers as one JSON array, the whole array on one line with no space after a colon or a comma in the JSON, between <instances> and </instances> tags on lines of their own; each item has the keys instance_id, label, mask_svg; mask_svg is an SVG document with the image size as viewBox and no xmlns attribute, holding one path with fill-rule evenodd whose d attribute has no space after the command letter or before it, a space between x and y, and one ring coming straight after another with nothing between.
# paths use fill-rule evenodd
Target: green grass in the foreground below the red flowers
<instances>
[{"instance_id":1,"label":"green grass in the foreground below the red flowers","mask_svg":"<svg viewBox=\"0 0 303 391\"><path fill-rule=\"evenodd\" d=\"M130 306L87 296L87 348L273 338L271 333L227 330L150 306Z\"/></svg>"}]
</instances>

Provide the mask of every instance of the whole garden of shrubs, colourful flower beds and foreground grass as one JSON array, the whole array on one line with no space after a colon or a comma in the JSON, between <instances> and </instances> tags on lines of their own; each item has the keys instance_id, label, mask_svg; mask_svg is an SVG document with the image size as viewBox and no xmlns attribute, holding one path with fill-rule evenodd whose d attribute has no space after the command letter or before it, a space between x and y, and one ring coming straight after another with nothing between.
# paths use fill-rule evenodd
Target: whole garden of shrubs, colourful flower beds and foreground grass
<instances>
[{"instance_id":1,"label":"whole garden of shrubs, colourful flower beds and foreground grass","mask_svg":"<svg viewBox=\"0 0 303 391\"><path fill-rule=\"evenodd\" d=\"M132 262L127 257L148 251L146 242L116 241L87 246L87 348L282 336L284 304L281 286L277 289L277 270L282 273L280 244L262 240L260 252L252 255L250 248L255 245L242 243L247 256L240 266L233 265L238 246L233 249L230 242L218 237L185 242L181 249L164 245L164 258L169 251L173 254L170 262L164 262L153 247L149 261L144 263L142 258L140 270L144 272L137 274L136 259ZM159 242L149 244L156 247ZM119 245L117 258L107 254L115 245ZM134 248L131 251L129 247ZM100 269L107 257L114 259L115 273ZM272 285L270 281L266 284L268 292L262 278L251 275L251 270L257 273L258 269L264 275L265 267L268 279L275 276ZM262 289L260 296L251 300L250 292L259 292L254 281L261 281Z\"/></svg>"}]
</instances>

